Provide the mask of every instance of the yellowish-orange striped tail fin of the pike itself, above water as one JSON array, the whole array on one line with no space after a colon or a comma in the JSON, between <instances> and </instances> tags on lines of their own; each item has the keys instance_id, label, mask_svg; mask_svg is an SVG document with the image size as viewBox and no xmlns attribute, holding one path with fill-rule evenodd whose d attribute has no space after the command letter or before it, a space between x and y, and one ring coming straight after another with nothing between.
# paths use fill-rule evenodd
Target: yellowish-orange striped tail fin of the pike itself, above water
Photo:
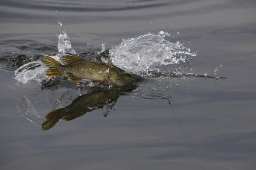
<instances>
[{"instance_id":1,"label":"yellowish-orange striped tail fin of the pike itself, above water","mask_svg":"<svg viewBox=\"0 0 256 170\"><path fill-rule=\"evenodd\" d=\"M49 56L44 56L42 58L42 62L49 67L45 73L47 77L63 75L63 69L61 67L62 65L58 61L50 58Z\"/></svg>"}]
</instances>

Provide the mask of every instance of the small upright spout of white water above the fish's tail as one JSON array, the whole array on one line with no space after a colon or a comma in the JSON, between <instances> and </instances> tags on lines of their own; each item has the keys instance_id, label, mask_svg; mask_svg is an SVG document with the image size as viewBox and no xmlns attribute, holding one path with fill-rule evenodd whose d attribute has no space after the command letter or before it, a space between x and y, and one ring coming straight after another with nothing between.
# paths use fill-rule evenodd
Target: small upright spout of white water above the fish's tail
<instances>
[{"instance_id":1,"label":"small upright spout of white water above the fish's tail","mask_svg":"<svg viewBox=\"0 0 256 170\"><path fill-rule=\"evenodd\" d=\"M76 51L71 47L70 38L63 30L63 34L57 33L58 36L58 52L59 53L71 53L73 55L76 54Z\"/></svg>"}]
</instances>

